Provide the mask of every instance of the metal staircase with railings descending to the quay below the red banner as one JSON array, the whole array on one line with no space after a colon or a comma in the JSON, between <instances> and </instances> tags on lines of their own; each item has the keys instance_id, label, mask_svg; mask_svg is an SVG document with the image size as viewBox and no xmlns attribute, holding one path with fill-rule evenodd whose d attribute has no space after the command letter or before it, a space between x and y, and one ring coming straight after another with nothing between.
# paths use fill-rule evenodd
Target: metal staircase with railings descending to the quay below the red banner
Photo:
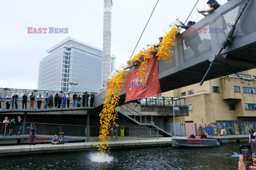
<instances>
[{"instance_id":1,"label":"metal staircase with railings descending to the quay below the red banner","mask_svg":"<svg viewBox=\"0 0 256 170\"><path fill-rule=\"evenodd\" d=\"M139 112L134 111L134 109L126 105L119 106L119 108L120 108L120 111L118 111L119 116L122 116L126 121L129 121L134 125L147 126L148 128L156 131L157 133L163 135L164 137L172 137L171 133L166 132L164 130L164 127L171 129L172 126L160 120L156 116L142 115Z\"/></svg>"}]
</instances>

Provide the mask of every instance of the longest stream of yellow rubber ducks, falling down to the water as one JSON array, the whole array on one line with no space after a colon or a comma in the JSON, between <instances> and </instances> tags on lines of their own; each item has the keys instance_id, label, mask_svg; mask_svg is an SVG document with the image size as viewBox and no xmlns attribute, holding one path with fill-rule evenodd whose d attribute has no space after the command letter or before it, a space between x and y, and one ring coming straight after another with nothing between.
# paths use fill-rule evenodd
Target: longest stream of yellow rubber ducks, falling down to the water
<instances>
[{"instance_id":1,"label":"longest stream of yellow rubber ducks, falling down to the water","mask_svg":"<svg viewBox=\"0 0 256 170\"><path fill-rule=\"evenodd\" d=\"M100 135L99 135L99 145L98 150L100 151L100 154L103 154L105 156L105 152L108 151L110 153L110 147L108 145L108 141L110 140L109 132L113 125L118 127L118 124L115 122L117 120L117 112L119 109L118 107L118 101L120 97L118 94L122 91L123 88L123 82L124 82L124 73L125 70L119 72L113 79L110 79L108 82L108 89L104 103L103 103L103 109L100 113ZM114 136L115 138L115 136ZM98 153L97 153L98 154Z\"/></svg>"}]
</instances>

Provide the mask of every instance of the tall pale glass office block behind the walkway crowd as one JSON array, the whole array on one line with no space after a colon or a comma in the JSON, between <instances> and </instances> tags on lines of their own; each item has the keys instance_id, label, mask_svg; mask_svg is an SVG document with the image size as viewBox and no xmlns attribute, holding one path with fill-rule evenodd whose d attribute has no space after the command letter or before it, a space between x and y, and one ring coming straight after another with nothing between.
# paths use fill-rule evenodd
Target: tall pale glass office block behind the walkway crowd
<instances>
[{"instance_id":1,"label":"tall pale glass office block behind the walkway crowd","mask_svg":"<svg viewBox=\"0 0 256 170\"><path fill-rule=\"evenodd\" d=\"M99 91L102 49L69 37L46 52L39 64L39 90Z\"/></svg>"}]
</instances>

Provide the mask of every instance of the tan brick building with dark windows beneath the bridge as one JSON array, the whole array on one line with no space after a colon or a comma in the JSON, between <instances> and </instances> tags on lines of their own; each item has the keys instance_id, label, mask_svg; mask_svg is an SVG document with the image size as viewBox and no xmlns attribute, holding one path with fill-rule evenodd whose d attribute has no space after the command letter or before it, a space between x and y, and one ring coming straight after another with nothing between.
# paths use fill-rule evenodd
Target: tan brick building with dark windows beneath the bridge
<instances>
[{"instance_id":1,"label":"tan brick building with dark windows beneath the bridge","mask_svg":"<svg viewBox=\"0 0 256 170\"><path fill-rule=\"evenodd\" d=\"M185 97L189 116L177 122L256 121L256 69L165 92Z\"/></svg>"}]
</instances>

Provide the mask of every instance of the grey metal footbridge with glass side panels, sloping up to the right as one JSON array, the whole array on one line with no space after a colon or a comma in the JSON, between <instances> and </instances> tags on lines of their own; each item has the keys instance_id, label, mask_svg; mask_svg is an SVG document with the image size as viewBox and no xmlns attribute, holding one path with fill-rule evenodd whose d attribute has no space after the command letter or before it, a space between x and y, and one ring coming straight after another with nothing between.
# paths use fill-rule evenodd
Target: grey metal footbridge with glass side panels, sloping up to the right
<instances>
[{"instance_id":1,"label":"grey metal footbridge with glass side panels, sloping up to the right","mask_svg":"<svg viewBox=\"0 0 256 170\"><path fill-rule=\"evenodd\" d=\"M198 21L192 30L182 32L171 48L175 53L172 62L158 61L161 92L201 82L210 64L204 80L256 68L255 8L256 1L229 1ZM95 107L102 105L105 94L96 96ZM125 89L120 96L124 102Z\"/></svg>"}]
</instances>

